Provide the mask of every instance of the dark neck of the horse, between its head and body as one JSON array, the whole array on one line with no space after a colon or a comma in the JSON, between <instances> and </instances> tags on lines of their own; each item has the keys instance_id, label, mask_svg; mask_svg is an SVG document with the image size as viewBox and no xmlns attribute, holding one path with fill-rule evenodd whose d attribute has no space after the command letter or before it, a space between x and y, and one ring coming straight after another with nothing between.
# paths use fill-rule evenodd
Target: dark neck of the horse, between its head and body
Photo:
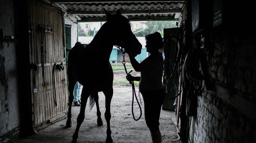
<instances>
[{"instance_id":1,"label":"dark neck of the horse, between its head and body","mask_svg":"<svg viewBox=\"0 0 256 143\"><path fill-rule=\"evenodd\" d=\"M106 22L102 25L100 30L94 36L92 42L89 44L96 50L98 54L104 55L103 57L108 60L113 48L111 34L109 34L110 32L111 31L109 30L108 24Z\"/></svg>"}]
</instances>

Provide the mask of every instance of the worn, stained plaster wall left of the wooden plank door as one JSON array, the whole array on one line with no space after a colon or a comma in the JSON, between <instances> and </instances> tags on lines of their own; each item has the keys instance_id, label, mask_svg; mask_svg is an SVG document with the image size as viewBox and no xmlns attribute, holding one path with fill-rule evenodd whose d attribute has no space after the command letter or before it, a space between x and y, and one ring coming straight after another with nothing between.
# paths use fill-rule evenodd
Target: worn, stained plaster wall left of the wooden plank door
<instances>
[{"instance_id":1,"label":"worn, stained plaster wall left of the wooden plank door","mask_svg":"<svg viewBox=\"0 0 256 143\"><path fill-rule=\"evenodd\" d=\"M0 4L0 29L6 36L15 36L13 0L2 0ZM0 142L17 136L20 126L19 93L15 43L3 42L0 46Z\"/></svg>"}]
</instances>

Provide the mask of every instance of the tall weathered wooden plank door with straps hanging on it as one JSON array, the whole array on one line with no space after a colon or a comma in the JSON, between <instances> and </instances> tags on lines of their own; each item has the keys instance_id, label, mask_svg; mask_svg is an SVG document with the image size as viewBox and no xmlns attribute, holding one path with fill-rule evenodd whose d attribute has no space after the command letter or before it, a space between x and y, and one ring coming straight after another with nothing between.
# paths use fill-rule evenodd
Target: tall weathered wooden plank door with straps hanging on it
<instances>
[{"instance_id":1,"label":"tall weathered wooden plank door with straps hanging on it","mask_svg":"<svg viewBox=\"0 0 256 143\"><path fill-rule=\"evenodd\" d=\"M61 10L31 1L30 62L33 127L41 130L65 117L67 74Z\"/></svg>"}]
</instances>

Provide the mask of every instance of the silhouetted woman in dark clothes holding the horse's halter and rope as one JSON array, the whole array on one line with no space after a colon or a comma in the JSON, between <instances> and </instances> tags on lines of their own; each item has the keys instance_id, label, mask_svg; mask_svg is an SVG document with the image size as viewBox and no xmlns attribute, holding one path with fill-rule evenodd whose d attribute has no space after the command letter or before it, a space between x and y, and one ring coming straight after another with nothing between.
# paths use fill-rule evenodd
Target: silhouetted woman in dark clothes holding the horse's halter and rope
<instances>
[{"instance_id":1,"label":"silhouetted woman in dark clothes holding the horse's halter and rope","mask_svg":"<svg viewBox=\"0 0 256 143\"><path fill-rule=\"evenodd\" d=\"M162 83L163 56L160 49L163 48L163 40L158 32L148 34L145 38L145 47L150 56L141 63L138 63L134 57L130 57L134 70L141 72L140 77L130 76L130 80L140 81L139 91L143 96L145 120L150 130L152 141L153 143L161 143L159 118L164 99L164 90ZM127 78L127 80L129 79Z\"/></svg>"}]
</instances>

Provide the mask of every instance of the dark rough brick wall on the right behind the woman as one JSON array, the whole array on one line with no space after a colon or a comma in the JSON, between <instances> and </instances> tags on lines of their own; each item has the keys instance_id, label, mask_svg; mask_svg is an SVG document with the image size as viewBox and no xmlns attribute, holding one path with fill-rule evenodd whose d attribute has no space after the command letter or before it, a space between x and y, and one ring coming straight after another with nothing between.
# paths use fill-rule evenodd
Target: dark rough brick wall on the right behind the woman
<instances>
[{"instance_id":1,"label":"dark rough brick wall on the right behind the woman","mask_svg":"<svg viewBox=\"0 0 256 143\"><path fill-rule=\"evenodd\" d=\"M252 34L249 34L252 33ZM256 34L214 31L207 57L213 91L197 97L197 116L190 118L194 143L256 142Z\"/></svg>"}]
</instances>

